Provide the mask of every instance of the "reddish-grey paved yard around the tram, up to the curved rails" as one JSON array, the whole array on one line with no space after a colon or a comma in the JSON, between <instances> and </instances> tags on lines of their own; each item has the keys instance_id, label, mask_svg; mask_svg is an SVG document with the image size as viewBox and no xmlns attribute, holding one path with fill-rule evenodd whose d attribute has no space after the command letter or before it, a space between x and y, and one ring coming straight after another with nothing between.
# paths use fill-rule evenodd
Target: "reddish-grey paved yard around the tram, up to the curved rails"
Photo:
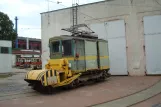
<instances>
[{"instance_id":1,"label":"reddish-grey paved yard around the tram, up to the curved rails","mask_svg":"<svg viewBox=\"0 0 161 107\"><path fill-rule=\"evenodd\" d=\"M53 95L42 95L31 90L30 87L27 86L27 83L23 81L26 71L18 71L21 72L18 73L16 70L16 75L0 80L0 107L44 107L52 106L53 104L56 107L91 106L107 101L113 102L113 100L118 98L145 90L161 79L160 76L115 76L102 83L89 84L88 86L73 90L55 90ZM157 83L155 87L155 93L151 92L150 95L158 93L157 87L160 88L159 83ZM154 88L154 86L151 88ZM144 93L136 94L135 96L138 97L137 95L140 95L139 98L147 98L147 95L144 95L147 94L147 92L143 92ZM126 97L123 99L126 99ZM133 100L131 100L131 103L132 101ZM135 102L137 101L139 100ZM129 100L128 102L130 103Z\"/></svg>"}]
</instances>

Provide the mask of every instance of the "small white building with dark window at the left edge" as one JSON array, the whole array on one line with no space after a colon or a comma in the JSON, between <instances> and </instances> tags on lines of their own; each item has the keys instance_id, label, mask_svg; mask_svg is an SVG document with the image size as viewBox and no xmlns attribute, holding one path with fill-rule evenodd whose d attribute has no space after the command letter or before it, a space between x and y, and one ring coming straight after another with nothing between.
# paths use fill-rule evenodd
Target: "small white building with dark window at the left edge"
<instances>
[{"instance_id":1,"label":"small white building with dark window at the left edge","mask_svg":"<svg viewBox=\"0 0 161 107\"><path fill-rule=\"evenodd\" d=\"M12 72L11 41L0 40L0 73Z\"/></svg>"}]
</instances>

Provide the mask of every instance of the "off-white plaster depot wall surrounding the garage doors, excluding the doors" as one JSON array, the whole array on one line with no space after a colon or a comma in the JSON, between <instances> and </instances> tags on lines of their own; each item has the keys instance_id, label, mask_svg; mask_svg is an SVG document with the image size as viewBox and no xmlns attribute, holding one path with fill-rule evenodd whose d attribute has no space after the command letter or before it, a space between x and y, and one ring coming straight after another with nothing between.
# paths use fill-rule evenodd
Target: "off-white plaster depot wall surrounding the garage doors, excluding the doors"
<instances>
[{"instance_id":1,"label":"off-white plaster depot wall surrounding the garage doors, excluding the doors","mask_svg":"<svg viewBox=\"0 0 161 107\"><path fill-rule=\"evenodd\" d=\"M157 0L161 3L161 0ZM161 14L161 5L155 0L114 0L79 7L79 23L102 23L123 19L126 23L127 65L129 75L145 75L143 17ZM49 59L50 37L66 34L61 29L72 25L71 10L64 9L43 13L42 61Z\"/></svg>"}]
</instances>

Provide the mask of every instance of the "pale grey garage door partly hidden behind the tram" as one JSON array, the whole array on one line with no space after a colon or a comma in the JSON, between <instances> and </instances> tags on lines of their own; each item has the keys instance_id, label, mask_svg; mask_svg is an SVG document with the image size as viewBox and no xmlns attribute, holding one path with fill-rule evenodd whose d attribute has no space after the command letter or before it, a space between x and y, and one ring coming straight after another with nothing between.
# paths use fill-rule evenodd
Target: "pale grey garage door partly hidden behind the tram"
<instances>
[{"instance_id":1,"label":"pale grey garage door partly hidden behind the tram","mask_svg":"<svg viewBox=\"0 0 161 107\"><path fill-rule=\"evenodd\" d=\"M108 40L110 73L127 75L126 39L124 20L91 24L101 39Z\"/></svg>"}]
</instances>

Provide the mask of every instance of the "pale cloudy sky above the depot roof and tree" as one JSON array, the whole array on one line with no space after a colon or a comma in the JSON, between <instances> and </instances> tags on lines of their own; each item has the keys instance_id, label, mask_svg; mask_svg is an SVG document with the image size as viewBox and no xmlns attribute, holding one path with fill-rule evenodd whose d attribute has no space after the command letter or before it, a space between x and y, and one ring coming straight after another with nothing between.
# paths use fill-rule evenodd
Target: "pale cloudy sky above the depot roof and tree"
<instances>
[{"instance_id":1,"label":"pale cloudy sky above the depot roof and tree","mask_svg":"<svg viewBox=\"0 0 161 107\"><path fill-rule=\"evenodd\" d=\"M57 4L57 1L61 2ZM79 0L79 4L87 4L102 0ZM18 36L41 38L40 13L66 8L72 0L0 0L0 11L6 13L15 23L18 17Z\"/></svg>"}]
</instances>

